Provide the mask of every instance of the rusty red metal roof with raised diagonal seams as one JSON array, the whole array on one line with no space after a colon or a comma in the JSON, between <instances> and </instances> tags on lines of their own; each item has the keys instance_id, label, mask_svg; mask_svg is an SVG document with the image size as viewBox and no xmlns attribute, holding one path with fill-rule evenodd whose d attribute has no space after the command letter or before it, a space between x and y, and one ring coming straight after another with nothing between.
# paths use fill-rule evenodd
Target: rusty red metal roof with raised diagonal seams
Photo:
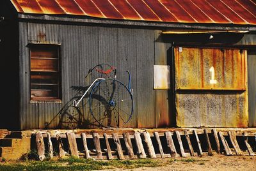
<instances>
[{"instance_id":1,"label":"rusty red metal roof with raised diagonal seams","mask_svg":"<svg viewBox=\"0 0 256 171\"><path fill-rule=\"evenodd\" d=\"M256 25L256 0L11 0L19 13Z\"/></svg>"}]
</instances>

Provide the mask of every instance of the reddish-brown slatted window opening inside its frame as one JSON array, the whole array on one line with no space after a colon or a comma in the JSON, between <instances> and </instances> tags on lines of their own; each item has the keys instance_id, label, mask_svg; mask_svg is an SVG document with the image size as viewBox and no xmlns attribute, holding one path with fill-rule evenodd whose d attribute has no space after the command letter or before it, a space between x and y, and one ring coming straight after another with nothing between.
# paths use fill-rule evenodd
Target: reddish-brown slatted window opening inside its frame
<instances>
[{"instance_id":1,"label":"reddish-brown slatted window opening inside its frame","mask_svg":"<svg viewBox=\"0 0 256 171\"><path fill-rule=\"evenodd\" d=\"M33 100L60 98L59 47L33 45L31 50L30 94Z\"/></svg>"}]
</instances>

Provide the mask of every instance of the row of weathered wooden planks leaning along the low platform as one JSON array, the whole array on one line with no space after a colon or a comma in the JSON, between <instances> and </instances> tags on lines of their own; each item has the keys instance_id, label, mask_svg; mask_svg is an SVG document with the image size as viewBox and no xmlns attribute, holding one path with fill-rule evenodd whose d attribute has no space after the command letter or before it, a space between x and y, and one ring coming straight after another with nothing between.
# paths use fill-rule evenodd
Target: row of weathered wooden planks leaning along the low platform
<instances>
[{"instance_id":1,"label":"row of weathered wooden planks leaning along the low platform","mask_svg":"<svg viewBox=\"0 0 256 171\"><path fill-rule=\"evenodd\" d=\"M52 138L56 138L55 144L52 144ZM79 138L80 142L83 142L80 145L82 148L79 148L77 143ZM118 133L99 135L97 132L81 133L80 135L74 132L50 135L50 133L39 131L35 133L35 139L40 160L44 160L45 151L52 158L54 149L57 149L60 158L75 156L97 160L175 158L178 156L203 156L204 154L212 156L214 152L227 156L254 155L252 147L248 143L248 135L245 132L242 137L239 136L239 144L236 131L222 132L216 129L204 130L200 134L196 130L175 130L161 133L143 131L135 132L133 135L127 132L122 133L122 135ZM65 145L63 145L64 139L66 139L68 149L65 149ZM90 144L88 143L89 139L91 139Z\"/></svg>"}]
</instances>

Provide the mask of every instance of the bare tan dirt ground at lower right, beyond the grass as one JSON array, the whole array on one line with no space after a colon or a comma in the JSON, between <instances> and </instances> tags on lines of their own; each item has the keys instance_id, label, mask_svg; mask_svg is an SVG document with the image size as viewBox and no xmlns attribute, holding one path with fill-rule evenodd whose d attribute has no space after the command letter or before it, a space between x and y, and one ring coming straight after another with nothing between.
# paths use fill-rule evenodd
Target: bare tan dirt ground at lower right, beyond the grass
<instances>
[{"instance_id":1,"label":"bare tan dirt ground at lower right, beyond the grass","mask_svg":"<svg viewBox=\"0 0 256 171\"><path fill-rule=\"evenodd\" d=\"M177 158L172 160L170 158L156 159L164 163L162 167L140 167L134 169L116 168L115 171L120 170L256 170L256 156L225 156L223 154L214 154L214 156L188 157ZM113 169L111 169L113 170Z\"/></svg>"}]
</instances>

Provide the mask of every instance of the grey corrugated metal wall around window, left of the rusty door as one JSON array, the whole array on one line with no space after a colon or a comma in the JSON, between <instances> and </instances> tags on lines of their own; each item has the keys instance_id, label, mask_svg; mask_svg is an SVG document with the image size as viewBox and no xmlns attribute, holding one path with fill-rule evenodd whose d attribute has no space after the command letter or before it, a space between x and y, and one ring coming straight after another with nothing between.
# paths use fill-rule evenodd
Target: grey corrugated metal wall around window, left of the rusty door
<instances>
[{"instance_id":1,"label":"grey corrugated metal wall around window, left of the rusty door","mask_svg":"<svg viewBox=\"0 0 256 171\"><path fill-rule=\"evenodd\" d=\"M44 128L75 96L72 85L85 85L87 71L99 63L118 68L118 80L132 75L134 114L129 128L170 126L168 91L153 89L153 65L167 64L170 43L155 42L160 31L115 27L73 26L20 22L20 123L21 129ZM61 45L62 103L29 102L28 43ZM87 83L88 84L88 83ZM87 114L85 114L87 118ZM88 115L92 121L92 116ZM58 126L56 117L50 128Z\"/></svg>"}]
</instances>

